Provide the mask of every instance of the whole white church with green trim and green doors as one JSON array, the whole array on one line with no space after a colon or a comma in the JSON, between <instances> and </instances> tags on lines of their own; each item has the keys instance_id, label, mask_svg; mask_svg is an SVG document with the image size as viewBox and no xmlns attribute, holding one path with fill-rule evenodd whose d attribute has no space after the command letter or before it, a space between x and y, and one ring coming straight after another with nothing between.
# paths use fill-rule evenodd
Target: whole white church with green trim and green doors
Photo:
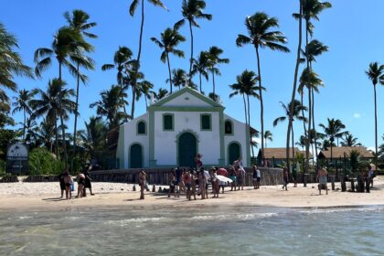
<instances>
[{"instance_id":1,"label":"whole white church with green trim and green doors","mask_svg":"<svg viewBox=\"0 0 384 256\"><path fill-rule=\"evenodd\" d=\"M224 113L224 106L185 87L152 103L147 112L119 128L120 168L251 165L250 130ZM239 114L240 114L239 108Z\"/></svg>"}]
</instances>

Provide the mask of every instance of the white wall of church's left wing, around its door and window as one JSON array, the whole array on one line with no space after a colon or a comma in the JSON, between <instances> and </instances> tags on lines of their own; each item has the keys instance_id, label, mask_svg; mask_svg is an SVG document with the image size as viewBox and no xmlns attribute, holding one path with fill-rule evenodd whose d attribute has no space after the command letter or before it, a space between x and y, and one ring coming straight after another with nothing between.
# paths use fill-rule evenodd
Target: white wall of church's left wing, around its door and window
<instances>
[{"instance_id":1,"label":"white wall of church's left wing, around its door and window","mask_svg":"<svg viewBox=\"0 0 384 256\"><path fill-rule=\"evenodd\" d=\"M124 123L124 168L128 168L130 159L130 147L132 144L138 143L143 146L143 158L144 158L144 167L149 167L149 122L148 122L148 113L141 115L131 122ZM137 123L144 121L146 123L145 132L146 134L137 135Z\"/></svg>"}]
</instances>

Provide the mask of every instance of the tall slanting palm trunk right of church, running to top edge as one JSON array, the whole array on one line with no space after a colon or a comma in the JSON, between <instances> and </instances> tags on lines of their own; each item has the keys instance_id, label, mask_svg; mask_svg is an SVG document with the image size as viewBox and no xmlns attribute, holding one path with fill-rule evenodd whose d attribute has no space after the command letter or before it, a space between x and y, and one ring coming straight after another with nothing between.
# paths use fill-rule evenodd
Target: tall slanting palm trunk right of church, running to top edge
<instances>
[{"instance_id":1,"label":"tall slanting palm trunk right of church, running to top edge","mask_svg":"<svg viewBox=\"0 0 384 256\"><path fill-rule=\"evenodd\" d=\"M294 67L294 76L293 76L293 91L292 91L292 97L291 97L291 102L294 101L294 96L296 95L296 87L297 87L297 77L299 73L299 66L300 66L300 50L302 48L302 34L303 34L303 0L299 0L300 2L300 19L299 19L299 43L297 46L297 54L296 54L296 66ZM305 126L305 125L304 125ZM290 114L289 114L289 119L288 119L288 129L287 129L287 142L286 142L286 161L289 163L289 141L290 141L290 134L292 130L292 137L293 137L293 103L291 104L291 109L290 109ZM293 138L292 138L293 139ZM294 154L293 154L294 157ZM291 171L291 166L288 165L288 173Z\"/></svg>"}]
</instances>

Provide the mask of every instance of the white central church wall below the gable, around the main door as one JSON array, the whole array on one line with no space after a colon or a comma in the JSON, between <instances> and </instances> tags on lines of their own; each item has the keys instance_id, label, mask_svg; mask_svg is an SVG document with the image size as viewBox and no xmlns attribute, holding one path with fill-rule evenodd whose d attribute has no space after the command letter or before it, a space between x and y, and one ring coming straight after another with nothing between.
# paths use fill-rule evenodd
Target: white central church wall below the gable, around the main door
<instances>
[{"instance_id":1,"label":"white central church wall below the gable, around the main door","mask_svg":"<svg viewBox=\"0 0 384 256\"><path fill-rule=\"evenodd\" d=\"M182 97L181 97L182 98ZM174 131L163 131L163 114L155 112L155 159L157 165L177 165L176 136L197 133L197 151L203 154L204 165L218 165L220 158L219 112L170 112L174 114ZM200 131L200 114L211 114L212 131Z\"/></svg>"}]
</instances>

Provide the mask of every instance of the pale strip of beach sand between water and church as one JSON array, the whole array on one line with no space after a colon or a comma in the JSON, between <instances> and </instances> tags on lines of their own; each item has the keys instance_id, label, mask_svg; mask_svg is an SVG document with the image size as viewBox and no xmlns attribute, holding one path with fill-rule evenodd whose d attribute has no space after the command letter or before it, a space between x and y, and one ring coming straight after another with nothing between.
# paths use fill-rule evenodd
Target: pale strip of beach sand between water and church
<instances>
[{"instance_id":1,"label":"pale strip of beach sand between water and church","mask_svg":"<svg viewBox=\"0 0 384 256\"><path fill-rule=\"evenodd\" d=\"M161 186L164 187L164 186ZM165 186L167 188L167 186ZM152 186L149 187L152 191ZM205 207L205 206L265 206L284 208L332 208L384 205L384 177L379 176L374 180L374 187L370 193L341 192L330 190L328 195L325 190L318 195L317 184L308 184L303 187L288 185L288 191L282 186L266 186L260 189L244 187L244 190L229 191L219 198L187 201L182 194L180 197L168 198L166 194L145 192L145 199L139 200L140 192L133 191L132 184L93 182L92 190L96 194L88 197L61 199L59 198L59 183L0 183L0 210L26 210L26 209L68 209L68 208L99 208L99 207ZM336 183L340 188L340 183ZM138 186L136 185L136 189ZM158 187L156 186L156 191ZM77 192L72 192L73 194ZM76 194L75 194L76 195Z\"/></svg>"}]
</instances>

